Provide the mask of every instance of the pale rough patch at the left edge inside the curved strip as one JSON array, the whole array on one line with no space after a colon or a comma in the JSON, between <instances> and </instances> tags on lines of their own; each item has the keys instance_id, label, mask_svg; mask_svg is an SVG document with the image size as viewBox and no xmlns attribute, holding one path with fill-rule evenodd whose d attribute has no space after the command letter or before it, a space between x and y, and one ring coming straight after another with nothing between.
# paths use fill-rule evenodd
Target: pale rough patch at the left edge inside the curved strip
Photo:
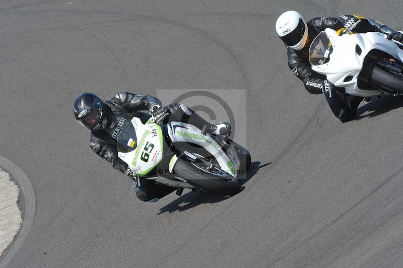
<instances>
[{"instance_id":1,"label":"pale rough patch at the left edge inside the curved strip","mask_svg":"<svg viewBox=\"0 0 403 268\"><path fill-rule=\"evenodd\" d=\"M9 173L0 169L0 256L20 230L19 195L20 189L11 181Z\"/></svg>"}]
</instances>

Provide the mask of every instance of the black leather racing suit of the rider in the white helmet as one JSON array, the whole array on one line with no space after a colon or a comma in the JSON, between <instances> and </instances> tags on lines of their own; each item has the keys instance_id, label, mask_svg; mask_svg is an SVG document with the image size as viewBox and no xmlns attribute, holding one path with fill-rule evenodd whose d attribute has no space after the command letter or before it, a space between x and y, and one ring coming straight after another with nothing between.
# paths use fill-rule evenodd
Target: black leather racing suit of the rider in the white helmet
<instances>
[{"instance_id":1,"label":"black leather racing suit of the rider in the white helmet","mask_svg":"<svg viewBox=\"0 0 403 268\"><path fill-rule=\"evenodd\" d=\"M318 74L311 69L309 63L309 46L313 39L326 28L340 30L342 28L351 29L355 33L383 32L383 28L376 27L368 20L351 15L343 15L339 18L321 17L313 18L307 22L308 25L308 44L302 50L288 48L288 66L290 70L302 82L306 90L311 94L321 94L327 81L326 76ZM384 25L382 25L384 26ZM389 28L388 28L389 29ZM333 112L342 122L351 119L357 111L358 105L363 100L362 97L356 97L345 93L344 88L333 87L332 97L328 92L324 93L326 100Z\"/></svg>"}]
</instances>

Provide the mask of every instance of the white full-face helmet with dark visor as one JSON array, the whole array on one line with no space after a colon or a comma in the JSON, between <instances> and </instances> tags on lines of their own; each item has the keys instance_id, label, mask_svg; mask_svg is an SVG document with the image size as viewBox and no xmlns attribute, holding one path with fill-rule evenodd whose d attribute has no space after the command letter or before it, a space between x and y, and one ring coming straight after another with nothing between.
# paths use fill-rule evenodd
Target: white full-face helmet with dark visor
<instances>
[{"instance_id":1,"label":"white full-face helmet with dark visor","mask_svg":"<svg viewBox=\"0 0 403 268\"><path fill-rule=\"evenodd\" d=\"M287 11L276 22L276 31L286 46L301 50L308 39L308 25L304 17L296 11Z\"/></svg>"}]
</instances>

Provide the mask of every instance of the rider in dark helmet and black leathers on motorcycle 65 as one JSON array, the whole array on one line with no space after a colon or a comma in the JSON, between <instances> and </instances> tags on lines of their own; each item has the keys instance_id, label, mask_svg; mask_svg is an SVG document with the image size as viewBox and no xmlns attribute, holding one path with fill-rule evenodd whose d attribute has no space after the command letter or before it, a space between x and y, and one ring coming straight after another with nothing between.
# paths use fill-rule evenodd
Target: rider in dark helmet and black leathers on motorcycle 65
<instances>
[{"instance_id":1,"label":"rider in dark helmet and black leathers on motorcycle 65","mask_svg":"<svg viewBox=\"0 0 403 268\"><path fill-rule=\"evenodd\" d=\"M161 101L153 96L141 96L128 92L119 92L114 98L102 101L92 93L80 94L73 107L76 119L91 130L91 150L98 156L112 164L112 166L133 179L135 192L143 201L156 201L171 193L176 188L155 184L148 180L142 180L139 184L135 181L135 174L131 173L127 164L117 156L116 139L120 130L130 122L133 116L150 117L158 120L166 112L169 120L184 121L202 129L209 127L213 135L229 135L231 126L228 122L211 124L193 112L186 105L172 103L165 109ZM144 113L146 111L150 113ZM164 120L168 120L165 118Z\"/></svg>"}]
</instances>

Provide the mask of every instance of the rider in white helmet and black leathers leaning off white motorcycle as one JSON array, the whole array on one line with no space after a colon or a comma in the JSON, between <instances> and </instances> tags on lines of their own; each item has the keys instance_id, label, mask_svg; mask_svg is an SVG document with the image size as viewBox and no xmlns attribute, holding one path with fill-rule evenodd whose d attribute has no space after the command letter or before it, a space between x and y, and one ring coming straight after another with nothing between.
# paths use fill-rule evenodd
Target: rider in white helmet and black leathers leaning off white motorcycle
<instances>
[{"instance_id":1,"label":"rider in white helmet and black leathers leaning off white motorcycle","mask_svg":"<svg viewBox=\"0 0 403 268\"><path fill-rule=\"evenodd\" d=\"M361 97L345 93L344 88L333 87L324 75L311 69L308 50L310 43L326 28L353 33L382 32L392 34L393 39L403 41L403 33L395 32L389 27L358 15L343 15L339 18L319 17L306 21L296 11L283 13L276 22L277 35L287 47L288 65L291 71L302 82L311 94L324 92L326 100L335 116L342 122L350 120L363 100ZM329 95L329 88L336 94Z\"/></svg>"}]
</instances>

